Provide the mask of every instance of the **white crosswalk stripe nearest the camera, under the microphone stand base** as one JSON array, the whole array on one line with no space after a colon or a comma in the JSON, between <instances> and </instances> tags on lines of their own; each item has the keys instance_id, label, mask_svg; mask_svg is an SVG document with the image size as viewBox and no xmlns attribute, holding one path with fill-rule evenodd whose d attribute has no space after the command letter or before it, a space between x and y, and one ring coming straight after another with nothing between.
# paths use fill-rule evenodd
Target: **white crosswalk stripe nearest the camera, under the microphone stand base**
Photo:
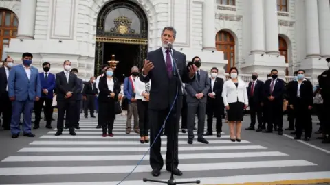
<instances>
[{"instance_id":1,"label":"white crosswalk stripe nearest the camera, under the microphone stand base","mask_svg":"<svg viewBox=\"0 0 330 185\"><path fill-rule=\"evenodd\" d=\"M180 164L181 165L181 164ZM201 184L243 184L253 182L276 182L290 180L322 180L329 179L330 171L304 172L304 173L274 173L261 175L239 175L227 177L203 177L190 179L177 179L177 182L200 180ZM159 179L167 182L168 179ZM34 184L3 184L3 185L118 185L119 181L111 182L54 182L54 183L34 183ZM120 185L155 185L155 182L143 182L141 180L124 181Z\"/></svg>"}]
</instances>

